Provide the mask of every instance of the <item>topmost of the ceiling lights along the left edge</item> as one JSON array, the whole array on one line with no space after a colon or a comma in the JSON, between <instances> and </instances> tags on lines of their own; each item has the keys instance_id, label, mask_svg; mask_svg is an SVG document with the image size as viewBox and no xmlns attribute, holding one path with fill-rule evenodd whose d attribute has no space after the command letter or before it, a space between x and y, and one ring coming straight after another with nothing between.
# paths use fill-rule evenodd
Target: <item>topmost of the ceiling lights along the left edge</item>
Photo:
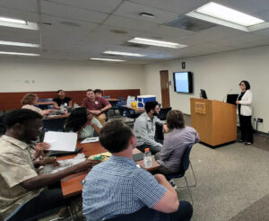
<instances>
[{"instance_id":1,"label":"topmost of the ceiling lights along the left edge","mask_svg":"<svg viewBox=\"0 0 269 221\"><path fill-rule=\"evenodd\" d=\"M27 22L19 19L0 17L0 26L18 28L18 29L29 29L39 30L39 26L36 22Z\"/></svg>"}]
</instances>

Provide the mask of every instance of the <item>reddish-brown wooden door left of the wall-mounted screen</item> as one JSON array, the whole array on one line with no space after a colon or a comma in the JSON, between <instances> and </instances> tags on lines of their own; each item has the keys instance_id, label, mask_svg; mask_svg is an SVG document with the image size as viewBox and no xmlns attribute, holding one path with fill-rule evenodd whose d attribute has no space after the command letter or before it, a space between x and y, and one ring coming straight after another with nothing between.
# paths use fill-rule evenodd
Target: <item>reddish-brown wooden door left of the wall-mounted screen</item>
<instances>
[{"instance_id":1,"label":"reddish-brown wooden door left of the wall-mounted screen","mask_svg":"<svg viewBox=\"0 0 269 221\"><path fill-rule=\"evenodd\" d=\"M161 78L161 106L162 108L170 107L169 97L169 72L167 70L160 71Z\"/></svg>"}]
</instances>

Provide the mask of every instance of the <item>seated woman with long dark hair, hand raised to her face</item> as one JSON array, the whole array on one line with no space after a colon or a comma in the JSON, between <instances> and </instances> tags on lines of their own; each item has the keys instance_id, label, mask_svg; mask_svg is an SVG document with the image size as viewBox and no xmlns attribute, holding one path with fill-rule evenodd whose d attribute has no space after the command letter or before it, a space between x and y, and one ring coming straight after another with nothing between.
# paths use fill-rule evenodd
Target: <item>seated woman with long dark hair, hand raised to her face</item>
<instances>
[{"instance_id":1,"label":"seated woman with long dark hair, hand raised to her face","mask_svg":"<svg viewBox=\"0 0 269 221\"><path fill-rule=\"evenodd\" d=\"M101 128L100 121L86 108L74 109L65 123L65 131L77 132L78 139L93 137L94 131L100 134Z\"/></svg>"}]
</instances>

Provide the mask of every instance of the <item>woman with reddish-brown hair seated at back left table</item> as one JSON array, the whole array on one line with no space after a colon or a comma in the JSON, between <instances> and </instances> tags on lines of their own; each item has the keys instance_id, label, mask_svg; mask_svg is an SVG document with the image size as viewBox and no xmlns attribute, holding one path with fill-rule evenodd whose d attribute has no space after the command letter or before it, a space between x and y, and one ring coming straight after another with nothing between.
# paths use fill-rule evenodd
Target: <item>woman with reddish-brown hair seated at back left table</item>
<instances>
[{"instance_id":1,"label":"woman with reddish-brown hair seated at back left table","mask_svg":"<svg viewBox=\"0 0 269 221\"><path fill-rule=\"evenodd\" d=\"M41 110L36 105L38 104L39 97L35 93L27 93L22 98L22 109L30 109L38 112L42 116L48 115L51 110Z\"/></svg>"}]
</instances>

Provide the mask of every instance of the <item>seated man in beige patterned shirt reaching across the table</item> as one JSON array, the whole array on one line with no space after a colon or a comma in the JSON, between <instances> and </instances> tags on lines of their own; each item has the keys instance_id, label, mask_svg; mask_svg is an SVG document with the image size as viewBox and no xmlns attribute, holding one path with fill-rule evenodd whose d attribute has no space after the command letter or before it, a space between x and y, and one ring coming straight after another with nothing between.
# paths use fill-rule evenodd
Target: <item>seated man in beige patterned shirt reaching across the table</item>
<instances>
[{"instance_id":1,"label":"seated man in beige patterned shirt reaching across the table","mask_svg":"<svg viewBox=\"0 0 269 221\"><path fill-rule=\"evenodd\" d=\"M22 208L11 220L30 220L52 208L65 206L62 190L43 189L65 176L91 168L86 160L63 171L39 175L30 155L30 142L37 140L42 116L33 110L13 110L5 117L6 131L0 137L0 220Z\"/></svg>"}]
</instances>

